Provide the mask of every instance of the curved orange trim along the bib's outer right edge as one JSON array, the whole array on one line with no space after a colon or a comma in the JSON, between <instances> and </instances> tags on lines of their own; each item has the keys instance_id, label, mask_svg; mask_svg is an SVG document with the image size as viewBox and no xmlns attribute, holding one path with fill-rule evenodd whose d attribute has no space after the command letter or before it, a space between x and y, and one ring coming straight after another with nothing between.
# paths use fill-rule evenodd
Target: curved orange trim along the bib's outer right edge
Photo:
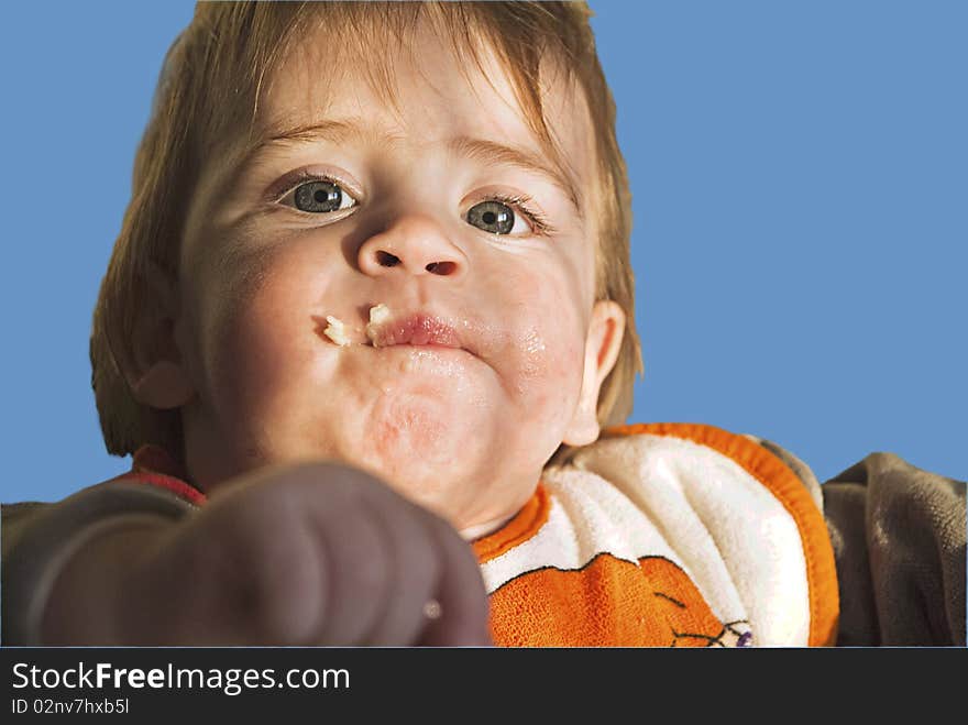
<instances>
[{"instance_id":1,"label":"curved orange trim along the bib's outer right edge","mask_svg":"<svg viewBox=\"0 0 968 725\"><path fill-rule=\"evenodd\" d=\"M840 611L834 549L824 516L798 475L762 446L713 426L684 422L636 424L609 428L603 432L603 438L640 435L682 438L712 448L736 461L783 504L796 521L803 541L810 589L809 644L833 646L836 642Z\"/></svg>"}]
</instances>

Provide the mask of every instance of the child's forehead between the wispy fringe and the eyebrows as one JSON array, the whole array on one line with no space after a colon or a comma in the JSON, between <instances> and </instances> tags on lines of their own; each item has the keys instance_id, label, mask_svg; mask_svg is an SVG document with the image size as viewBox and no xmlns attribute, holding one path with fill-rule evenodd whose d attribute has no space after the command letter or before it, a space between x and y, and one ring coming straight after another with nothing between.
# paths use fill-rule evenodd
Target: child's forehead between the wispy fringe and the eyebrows
<instances>
[{"instance_id":1,"label":"child's forehead between the wispy fringe and the eyebrows","mask_svg":"<svg viewBox=\"0 0 968 725\"><path fill-rule=\"evenodd\" d=\"M255 118L255 143L311 140L387 149L447 145L477 155L543 166L566 187L580 216L594 141L584 94L553 58L540 67L539 113L526 110L494 48L476 54L418 21L411 34L304 32L267 79ZM488 143L468 143L484 141Z\"/></svg>"}]
</instances>

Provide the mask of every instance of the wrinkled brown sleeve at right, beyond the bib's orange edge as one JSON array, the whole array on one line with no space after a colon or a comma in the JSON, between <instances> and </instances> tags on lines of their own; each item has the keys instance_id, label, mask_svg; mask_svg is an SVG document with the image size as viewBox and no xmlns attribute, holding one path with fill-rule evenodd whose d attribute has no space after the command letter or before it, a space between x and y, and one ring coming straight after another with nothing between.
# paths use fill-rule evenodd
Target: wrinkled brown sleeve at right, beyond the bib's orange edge
<instances>
[{"instance_id":1,"label":"wrinkled brown sleeve at right, beyond the bib's orange edge","mask_svg":"<svg viewBox=\"0 0 968 725\"><path fill-rule=\"evenodd\" d=\"M964 481L871 453L821 486L840 646L965 645Z\"/></svg>"}]
</instances>

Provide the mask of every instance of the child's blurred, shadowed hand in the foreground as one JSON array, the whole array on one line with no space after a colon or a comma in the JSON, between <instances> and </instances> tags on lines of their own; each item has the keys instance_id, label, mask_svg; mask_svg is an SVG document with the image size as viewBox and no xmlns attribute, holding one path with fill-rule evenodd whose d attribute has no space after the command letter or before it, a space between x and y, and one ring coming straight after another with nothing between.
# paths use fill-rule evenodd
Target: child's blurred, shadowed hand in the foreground
<instances>
[{"instance_id":1,"label":"child's blurred, shadowed hand in the foreground","mask_svg":"<svg viewBox=\"0 0 968 725\"><path fill-rule=\"evenodd\" d=\"M477 562L457 531L326 463L265 469L182 523L105 534L58 578L43 631L105 645L490 644Z\"/></svg>"}]
</instances>

